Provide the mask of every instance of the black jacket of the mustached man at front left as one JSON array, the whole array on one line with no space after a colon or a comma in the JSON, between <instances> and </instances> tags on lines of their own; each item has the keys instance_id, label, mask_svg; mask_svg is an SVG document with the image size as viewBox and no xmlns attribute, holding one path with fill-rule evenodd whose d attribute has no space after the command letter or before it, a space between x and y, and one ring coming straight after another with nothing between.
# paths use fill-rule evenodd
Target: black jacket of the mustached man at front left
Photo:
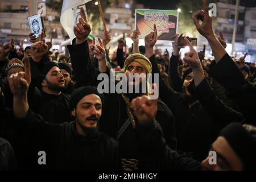
<instances>
[{"instance_id":1,"label":"black jacket of the mustached man at front left","mask_svg":"<svg viewBox=\"0 0 256 182\"><path fill-rule=\"evenodd\" d=\"M33 166L38 169L112 170L118 168L118 144L97 131L86 137L78 134L76 123L52 124L28 110L16 119L20 137L28 143ZM20 141L22 143L22 141ZM39 151L46 153L46 165L39 165Z\"/></svg>"}]
</instances>

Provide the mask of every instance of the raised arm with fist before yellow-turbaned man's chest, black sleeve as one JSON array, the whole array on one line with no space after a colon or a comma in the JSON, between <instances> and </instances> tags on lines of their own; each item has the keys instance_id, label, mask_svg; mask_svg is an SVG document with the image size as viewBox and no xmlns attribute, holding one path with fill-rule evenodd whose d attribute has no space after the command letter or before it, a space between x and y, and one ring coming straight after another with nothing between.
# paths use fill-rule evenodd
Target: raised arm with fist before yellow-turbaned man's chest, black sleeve
<instances>
[{"instance_id":1,"label":"raised arm with fist before yellow-turbaned man's chest, black sleeve","mask_svg":"<svg viewBox=\"0 0 256 182\"><path fill-rule=\"evenodd\" d=\"M184 158L171 150L163 138L162 129L155 121L157 100L147 96L135 98L131 106L139 123L135 127L138 139L140 168L147 170L200 170L200 163Z\"/></svg>"}]
</instances>

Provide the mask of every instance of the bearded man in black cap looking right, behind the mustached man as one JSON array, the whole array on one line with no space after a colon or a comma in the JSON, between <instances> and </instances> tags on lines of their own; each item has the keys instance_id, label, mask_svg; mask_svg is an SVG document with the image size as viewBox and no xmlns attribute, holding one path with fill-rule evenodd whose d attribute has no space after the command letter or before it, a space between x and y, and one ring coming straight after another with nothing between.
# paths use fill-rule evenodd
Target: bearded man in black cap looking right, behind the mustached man
<instances>
[{"instance_id":1,"label":"bearded man in black cap looking right, behind the mustached man","mask_svg":"<svg viewBox=\"0 0 256 182\"><path fill-rule=\"evenodd\" d=\"M50 123L71 122L69 95L62 93L64 89L65 80L59 65L51 61L47 62L38 80L34 96L28 96L32 98L30 99L32 109Z\"/></svg>"}]
</instances>

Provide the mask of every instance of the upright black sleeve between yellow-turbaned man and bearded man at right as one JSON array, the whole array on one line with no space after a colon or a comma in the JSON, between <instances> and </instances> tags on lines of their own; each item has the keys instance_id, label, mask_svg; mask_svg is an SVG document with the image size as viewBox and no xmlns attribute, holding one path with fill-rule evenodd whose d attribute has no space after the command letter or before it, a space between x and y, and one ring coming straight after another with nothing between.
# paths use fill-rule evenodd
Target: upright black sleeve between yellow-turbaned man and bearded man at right
<instances>
[{"instance_id":1,"label":"upright black sleeve between yellow-turbaned man and bearded man at right","mask_svg":"<svg viewBox=\"0 0 256 182\"><path fill-rule=\"evenodd\" d=\"M170 64L169 64L169 77L171 79L172 83L172 89L174 89L176 92L182 93L182 80L178 72L179 67L179 56L174 56L170 58Z\"/></svg>"}]
</instances>

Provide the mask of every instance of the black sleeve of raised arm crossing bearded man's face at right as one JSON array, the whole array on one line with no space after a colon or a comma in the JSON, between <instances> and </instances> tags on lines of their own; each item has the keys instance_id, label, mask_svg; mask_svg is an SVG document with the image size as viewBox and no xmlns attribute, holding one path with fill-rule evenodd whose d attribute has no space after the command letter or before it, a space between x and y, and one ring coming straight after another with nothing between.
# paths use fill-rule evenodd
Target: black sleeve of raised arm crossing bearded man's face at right
<instances>
[{"instance_id":1,"label":"black sleeve of raised arm crossing bearded man's face at right","mask_svg":"<svg viewBox=\"0 0 256 182\"><path fill-rule=\"evenodd\" d=\"M230 122L242 122L243 115L231 107L228 107L218 97L215 96L209 82L206 78L197 86L194 82L189 86L193 86L195 96L207 113L214 118L214 121L222 126L228 125Z\"/></svg>"}]
</instances>

